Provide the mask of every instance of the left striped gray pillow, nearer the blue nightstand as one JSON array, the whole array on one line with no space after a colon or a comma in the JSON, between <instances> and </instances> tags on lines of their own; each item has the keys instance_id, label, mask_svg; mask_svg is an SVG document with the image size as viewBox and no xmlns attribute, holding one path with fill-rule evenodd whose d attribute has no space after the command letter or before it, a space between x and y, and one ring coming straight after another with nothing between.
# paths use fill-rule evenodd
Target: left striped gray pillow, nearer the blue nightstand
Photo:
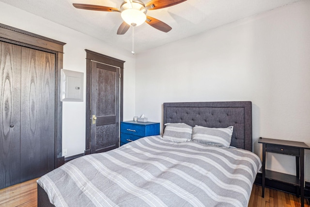
<instances>
[{"instance_id":1,"label":"left striped gray pillow, nearer the blue nightstand","mask_svg":"<svg viewBox=\"0 0 310 207\"><path fill-rule=\"evenodd\" d=\"M184 123L167 124L163 134L164 140L172 142L188 142L192 138L193 127Z\"/></svg>"}]
</instances>

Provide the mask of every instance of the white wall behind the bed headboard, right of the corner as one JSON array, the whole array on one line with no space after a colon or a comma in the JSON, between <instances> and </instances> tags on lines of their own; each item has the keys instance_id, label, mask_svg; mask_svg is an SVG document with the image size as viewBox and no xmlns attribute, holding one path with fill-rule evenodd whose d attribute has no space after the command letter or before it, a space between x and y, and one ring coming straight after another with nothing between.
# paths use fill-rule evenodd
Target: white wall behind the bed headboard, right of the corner
<instances>
[{"instance_id":1,"label":"white wall behind the bed headboard, right of the corner","mask_svg":"<svg viewBox=\"0 0 310 207\"><path fill-rule=\"evenodd\" d=\"M162 122L164 102L252 101L256 154L261 136L310 145L309 11L300 1L138 54L135 115ZM294 165L267 159L292 175ZM306 168L310 181L310 155Z\"/></svg>"}]
</instances>

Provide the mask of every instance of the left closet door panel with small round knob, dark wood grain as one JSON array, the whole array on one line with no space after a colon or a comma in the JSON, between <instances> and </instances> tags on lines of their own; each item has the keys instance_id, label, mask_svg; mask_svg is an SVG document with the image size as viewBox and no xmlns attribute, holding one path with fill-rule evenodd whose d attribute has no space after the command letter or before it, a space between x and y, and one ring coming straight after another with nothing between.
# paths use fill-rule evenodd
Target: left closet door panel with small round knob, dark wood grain
<instances>
[{"instance_id":1,"label":"left closet door panel with small round knob, dark wood grain","mask_svg":"<svg viewBox=\"0 0 310 207\"><path fill-rule=\"evenodd\" d=\"M21 47L0 42L0 189L19 183Z\"/></svg>"}]
</instances>

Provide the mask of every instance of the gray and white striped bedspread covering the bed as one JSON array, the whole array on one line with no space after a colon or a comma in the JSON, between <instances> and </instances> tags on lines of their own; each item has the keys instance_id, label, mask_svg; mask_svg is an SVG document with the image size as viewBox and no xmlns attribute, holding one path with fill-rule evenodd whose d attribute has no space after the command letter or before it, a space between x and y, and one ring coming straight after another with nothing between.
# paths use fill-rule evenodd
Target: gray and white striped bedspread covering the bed
<instances>
[{"instance_id":1,"label":"gray and white striped bedspread covering the bed","mask_svg":"<svg viewBox=\"0 0 310 207\"><path fill-rule=\"evenodd\" d=\"M247 150L151 136L71 160L37 182L56 207L246 207L260 168Z\"/></svg>"}]
</instances>

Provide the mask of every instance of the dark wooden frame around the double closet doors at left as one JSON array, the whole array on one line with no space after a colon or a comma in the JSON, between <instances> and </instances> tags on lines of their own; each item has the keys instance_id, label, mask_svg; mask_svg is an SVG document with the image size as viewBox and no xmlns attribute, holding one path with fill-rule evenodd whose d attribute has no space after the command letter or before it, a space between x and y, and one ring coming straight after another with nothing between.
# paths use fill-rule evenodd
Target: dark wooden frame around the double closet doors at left
<instances>
[{"instance_id":1,"label":"dark wooden frame around the double closet doors at left","mask_svg":"<svg viewBox=\"0 0 310 207\"><path fill-rule=\"evenodd\" d=\"M0 23L0 41L55 54L55 159L54 167L64 164L62 157L61 69L66 43Z\"/></svg>"}]
</instances>

